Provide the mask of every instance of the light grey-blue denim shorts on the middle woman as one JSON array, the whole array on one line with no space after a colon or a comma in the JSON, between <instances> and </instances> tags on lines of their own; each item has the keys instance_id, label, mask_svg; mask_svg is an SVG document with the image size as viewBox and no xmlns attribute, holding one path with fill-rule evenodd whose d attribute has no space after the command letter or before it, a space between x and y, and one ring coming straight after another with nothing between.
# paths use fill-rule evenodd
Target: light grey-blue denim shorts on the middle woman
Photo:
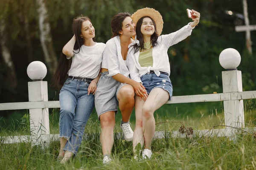
<instances>
[{"instance_id":1,"label":"light grey-blue denim shorts on the middle woman","mask_svg":"<svg viewBox=\"0 0 256 170\"><path fill-rule=\"evenodd\" d=\"M98 118L103 113L109 111L115 111L117 113L117 94L124 85L128 84L120 83L113 79L113 77L109 77L108 72L102 72L97 84L97 90L94 94L95 109Z\"/></svg>"}]
</instances>

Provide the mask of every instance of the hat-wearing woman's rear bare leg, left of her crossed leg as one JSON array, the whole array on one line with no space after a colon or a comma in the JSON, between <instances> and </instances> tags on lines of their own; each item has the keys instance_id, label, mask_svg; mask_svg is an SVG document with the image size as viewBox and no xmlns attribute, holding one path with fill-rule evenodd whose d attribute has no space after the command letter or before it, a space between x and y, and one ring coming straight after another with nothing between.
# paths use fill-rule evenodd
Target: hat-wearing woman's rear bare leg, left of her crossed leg
<instances>
[{"instance_id":1,"label":"hat-wearing woman's rear bare leg, left of her crossed leg","mask_svg":"<svg viewBox=\"0 0 256 170\"><path fill-rule=\"evenodd\" d=\"M135 96L135 117L136 117L136 125L134 129L134 137L133 137L133 151L134 153L137 152L135 150L135 147L137 144L140 143L141 147L143 147L144 144L144 136L143 136L143 129L142 129L142 108L145 101L142 99L140 100L139 96ZM141 149L141 148L140 148Z\"/></svg>"}]
</instances>

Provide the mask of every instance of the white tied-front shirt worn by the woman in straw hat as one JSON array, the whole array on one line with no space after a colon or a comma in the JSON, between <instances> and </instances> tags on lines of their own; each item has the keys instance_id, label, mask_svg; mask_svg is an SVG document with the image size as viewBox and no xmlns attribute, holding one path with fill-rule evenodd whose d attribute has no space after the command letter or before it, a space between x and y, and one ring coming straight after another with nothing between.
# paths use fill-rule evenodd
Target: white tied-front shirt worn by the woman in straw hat
<instances>
[{"instance_id":1,"label":"white tied-front shirt worn by the woman in straw hat","mask_svg":"<svg viewBox=\"0 0 256 170\"><path fill-rule=\"evenodd\" d=\"M190 23L189 23L190 24ZM160 75L160 71L168 73L170 76L170 63L168 57L168 48L172 45L177 44L178 42L186 39L191 35L192 27L190 25L182 27L180 30L173 32L171 34L161 35L158 37L158 45L153 47L152 56L153 56L153 66L150 67L141 67L139 63L140 51L134 54L134 48L132 45L137 43L140 45L139 40L135 40L129 45L129 50L127 54L127 64L130 71L131 79L141 82L140 77L144 74L154 71L157 76Z\"/></svg>"}]
</instances>

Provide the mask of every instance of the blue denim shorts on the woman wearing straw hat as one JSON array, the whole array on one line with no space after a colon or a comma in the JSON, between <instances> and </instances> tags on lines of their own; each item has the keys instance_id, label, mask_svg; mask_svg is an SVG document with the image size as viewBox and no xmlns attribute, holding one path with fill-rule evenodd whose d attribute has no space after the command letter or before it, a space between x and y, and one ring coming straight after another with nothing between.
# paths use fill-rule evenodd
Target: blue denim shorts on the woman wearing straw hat
<instances>
[{"instance_id":1,"label":"blue denim shorts on the woman wearing straw hat","mask_svg":"<svg viewBox=\"0 0 256 170\"><path fill-rule=\"evenodd\" d=\"M168 91L170 98L172 99L172 82L168 74L161 73L158 77L156 74L145 74L140 77L143 82L144 87L146 88L148 94L154 88L163 88L163 90Z\"/></svg>"}]
</instances>

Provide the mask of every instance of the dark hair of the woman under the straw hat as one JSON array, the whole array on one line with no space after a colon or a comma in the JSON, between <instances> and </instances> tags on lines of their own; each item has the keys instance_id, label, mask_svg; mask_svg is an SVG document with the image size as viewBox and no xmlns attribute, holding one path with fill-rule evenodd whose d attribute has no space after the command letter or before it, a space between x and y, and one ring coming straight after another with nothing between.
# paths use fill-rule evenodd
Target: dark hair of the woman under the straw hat
<instances>
[{"instance_id":1,"label":"dark hair of the woman under the straw hat","mask_svg":"<svg viewBox=\"0 0 256 170\"><path fill-rule=\"evenodd\" d=\"M144 18L150 18L153 21L155 31L151 35L150 41L151 41L151 45L153 47L158 45L157 38L159 37L159 35L157 34L157 26L156 26L155 21L151 17L148 17L148 16L141 17L140 20L138 20L137 25L136 25L136 36L137 36L137 40L139 40L139 42L140 42L140 45L138 45L138 44L133 45L134 46L133 48L135 48L134 54L137 53L138 51L141 51L141 50L145 49L144 48L144 41L143 41L143 34L140 31L140 28L141 28L141 25L143 23Z\"/></svg>"}]
</instances>

